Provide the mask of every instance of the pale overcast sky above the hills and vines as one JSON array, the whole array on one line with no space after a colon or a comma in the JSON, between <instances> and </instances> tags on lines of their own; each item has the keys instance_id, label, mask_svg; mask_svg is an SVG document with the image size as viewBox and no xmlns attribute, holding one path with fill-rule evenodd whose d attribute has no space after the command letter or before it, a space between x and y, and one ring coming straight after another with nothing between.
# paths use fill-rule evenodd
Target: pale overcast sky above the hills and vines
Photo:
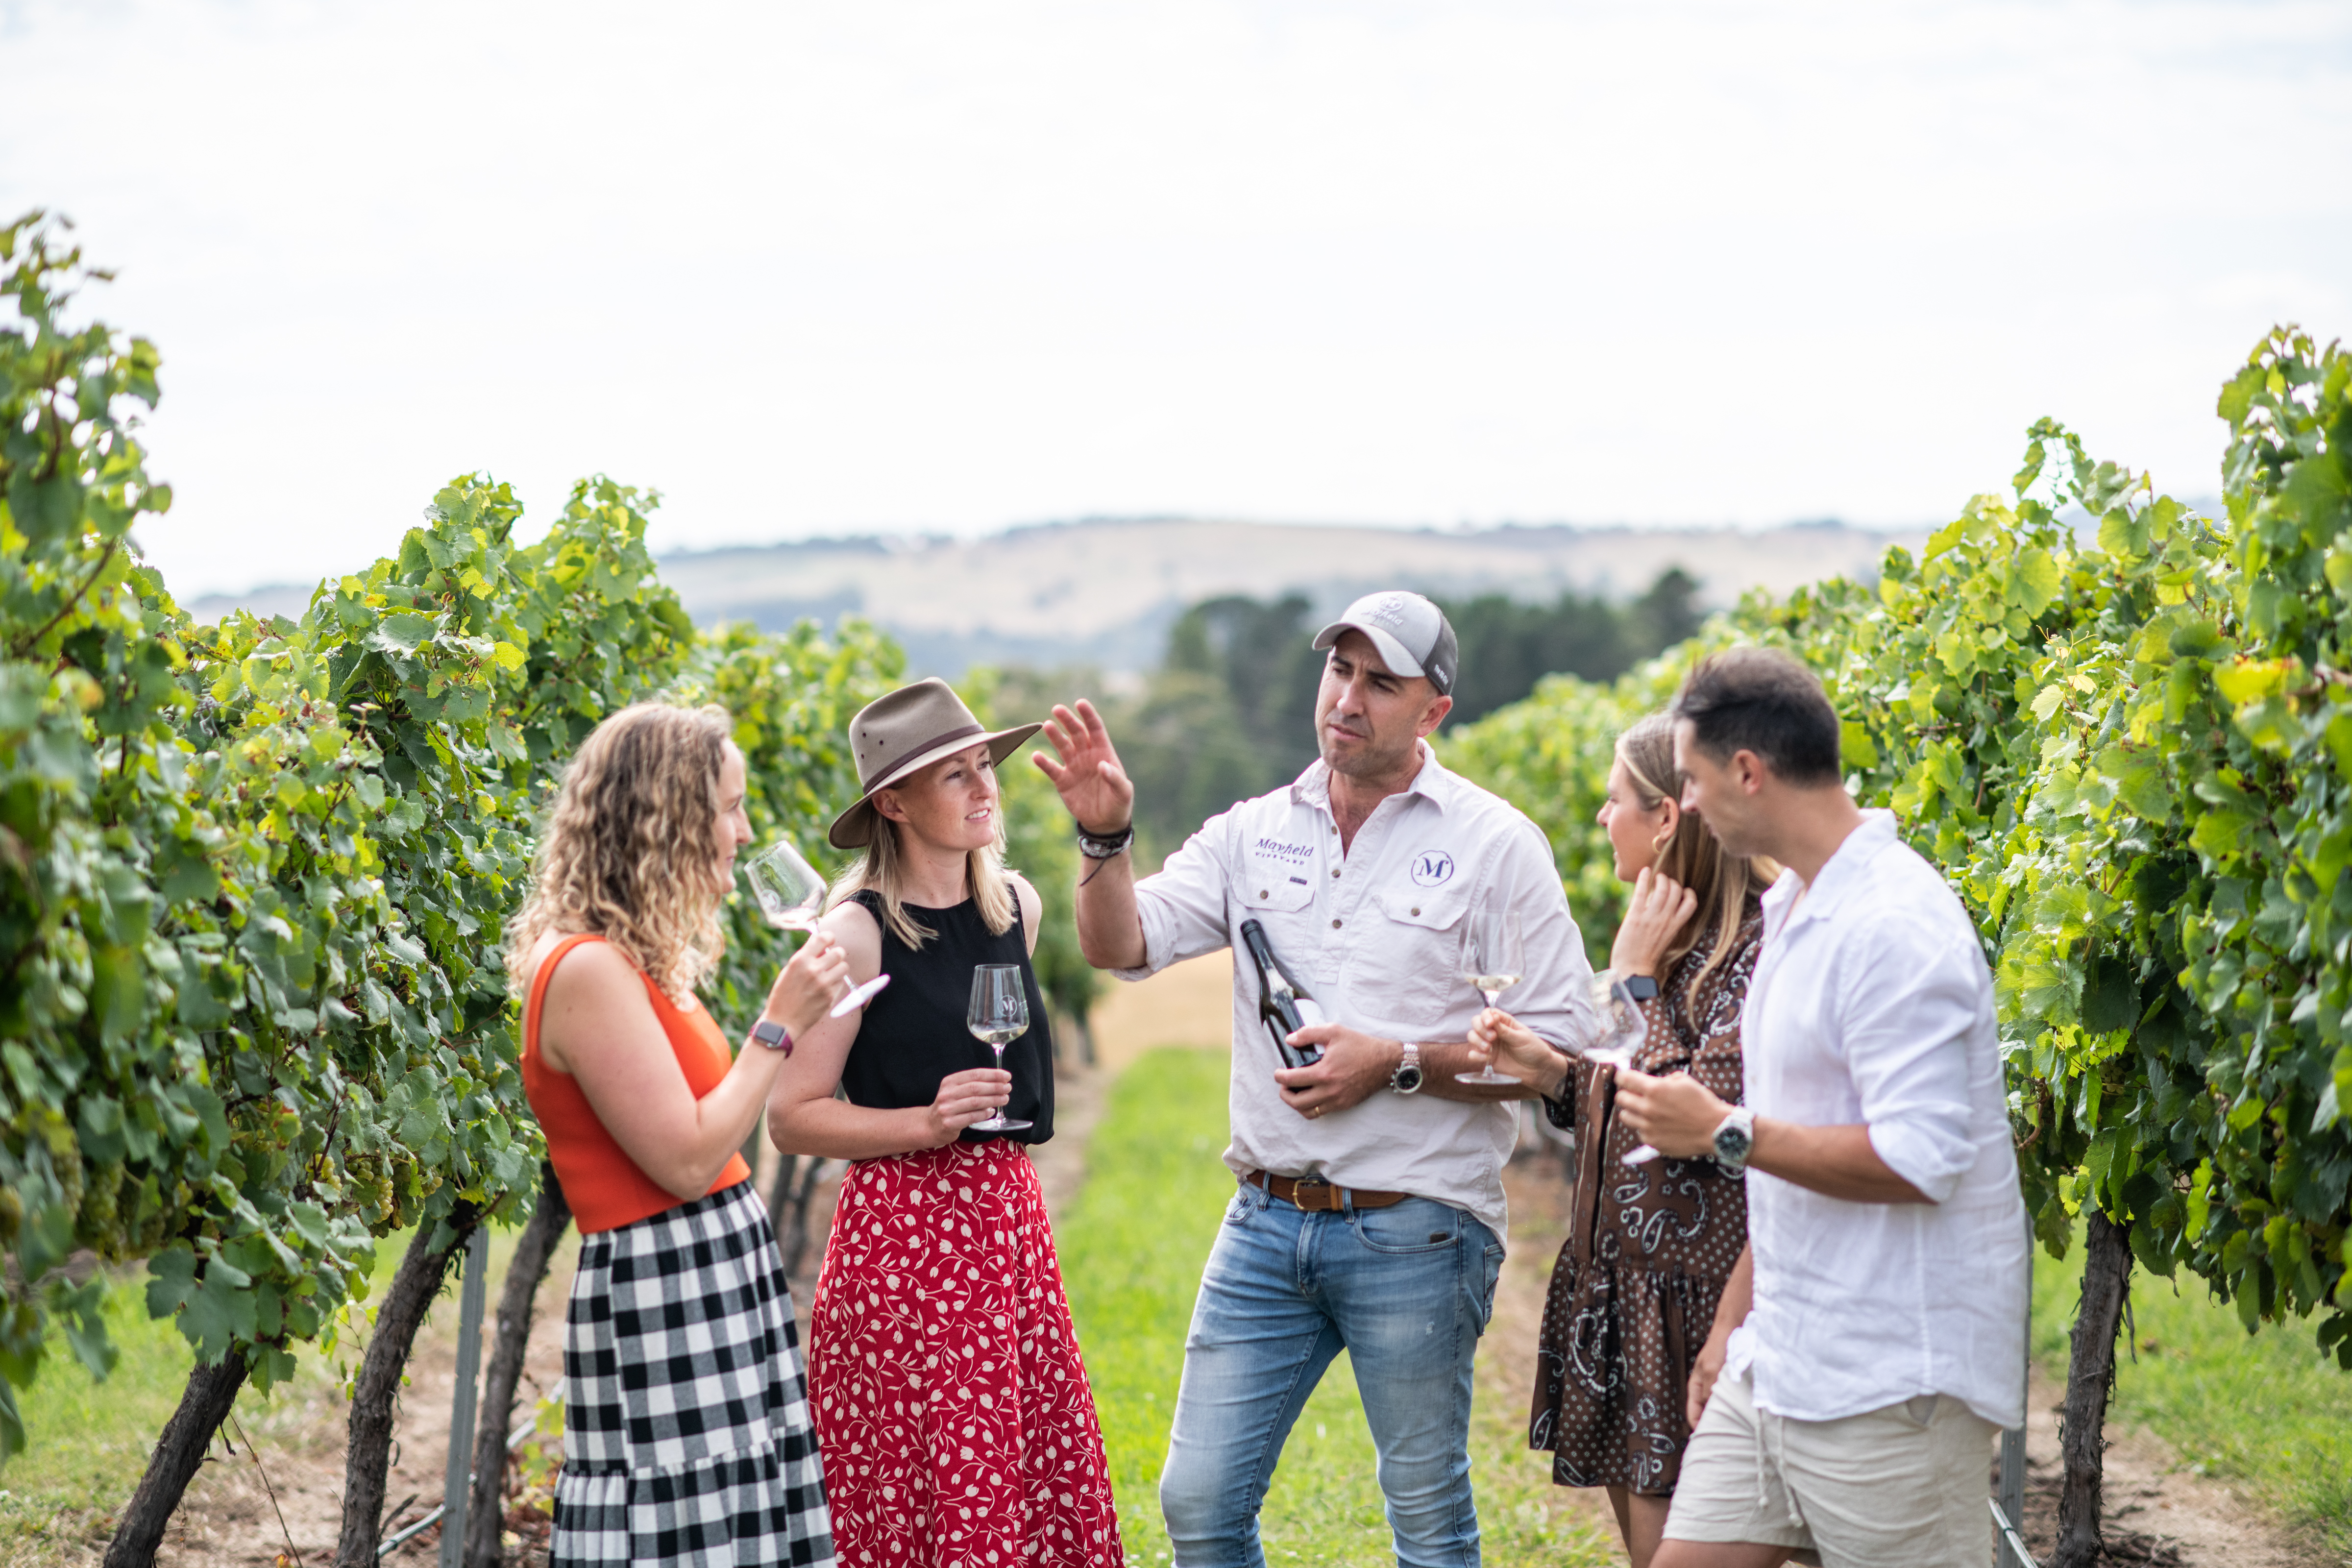
<instances>
[{"instance_id":1,"label":"pale overcast sky above the hills and vines","mask_svg":"<svg viewBox=\"0 0 2352 1568\"><path fill-rule=\"evenodd\" d=\"M2352 5L0 0L0 209L153 336L183 595L449 475L656 543L1917 524L2218 491L2352 334Z\"/></svg>"}]
</instances>

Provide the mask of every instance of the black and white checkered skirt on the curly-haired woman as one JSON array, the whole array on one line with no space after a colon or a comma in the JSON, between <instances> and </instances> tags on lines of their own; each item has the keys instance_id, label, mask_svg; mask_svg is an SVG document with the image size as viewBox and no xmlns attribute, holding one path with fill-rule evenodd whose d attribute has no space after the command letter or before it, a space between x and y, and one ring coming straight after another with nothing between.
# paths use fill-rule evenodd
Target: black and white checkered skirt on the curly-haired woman
<instances>
[{"instance_id":1,"label":"black and white checkered skirt on the curly-haired woman","mask_svg":"<svg viewBox=\"0 0 2352 1568\"><path fill-rule=\"evenodd\" d=\"M833 1568L793 1298L750 1182L581 1239L553 1561Z\"/></svg>"}]
</instances>

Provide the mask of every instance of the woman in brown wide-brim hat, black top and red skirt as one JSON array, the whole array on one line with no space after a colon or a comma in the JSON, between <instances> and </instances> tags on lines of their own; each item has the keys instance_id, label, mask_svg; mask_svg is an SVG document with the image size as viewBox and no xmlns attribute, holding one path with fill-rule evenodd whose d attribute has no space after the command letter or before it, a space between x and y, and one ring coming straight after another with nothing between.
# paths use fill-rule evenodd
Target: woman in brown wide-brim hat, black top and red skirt
<instances>
[{"instance_id":1,"label":"woman in brown wide-brim hat, black top and red skirt","mask_svg":"<svg viewBox=\"0 0 2352 1568\"><path fill-rule=\"evenodd\" d=\"M823 926L891 983L814 1027L767 1126L849 1159L809 1309L809 1403L842 1563L1122 1563L1094 1394L1023 1145L1054 1135L1054 1039L1030 969L1037 889L1004 867L990 731L927 679L858 712L858 799L828 835L866 851ZM1030 1027L1004 1070L967 1030L974 969L1018 971ZM835 1098L840 1091L840 1098ZM1030 1126L981 1131L1004 1110Z\"/></svg>"}]
</instances>

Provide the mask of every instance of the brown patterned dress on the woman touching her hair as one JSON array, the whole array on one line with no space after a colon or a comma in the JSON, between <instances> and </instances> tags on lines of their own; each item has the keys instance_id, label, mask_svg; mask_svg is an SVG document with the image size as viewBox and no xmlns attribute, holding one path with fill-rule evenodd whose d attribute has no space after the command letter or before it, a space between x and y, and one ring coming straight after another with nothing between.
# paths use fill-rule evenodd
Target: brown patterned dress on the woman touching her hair
<instances>
[{"instance_id":1,"label":"brown patterned dress on the woman touching her hair","mask_svg":"<svg viewBox=\"0 0 2352 1568\"><path fill-rule=\"evenodd\" d=\"M1740 1100L1740 999L1762 936L1764 912L1750 900L1731 957L1696 994L1712 931L1675 961L1642 1004L1642 1072L1689 1072ZM1578 1060L1559 1093L1543 1110L1578 1133L1576 1197L1543 1307L1526 1446L1552 1450L1559 1486L1663 1497L1691 1436L1682 1418L1691 1363L1748 1246L1748 1182L1712 1159L1623 1164L1639 1138L1616 1119L1613 1067Z\"/></svg>"}]
</instances>

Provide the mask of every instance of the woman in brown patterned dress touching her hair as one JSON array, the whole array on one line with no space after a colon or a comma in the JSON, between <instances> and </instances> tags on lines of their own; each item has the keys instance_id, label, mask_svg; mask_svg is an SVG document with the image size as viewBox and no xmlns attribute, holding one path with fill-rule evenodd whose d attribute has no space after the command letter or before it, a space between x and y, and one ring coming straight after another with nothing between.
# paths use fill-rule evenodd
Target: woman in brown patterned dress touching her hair
<instances>
[{"instance_id":1,"label":"woman in brown patterned dress touching her hair","mask_svg":"<svg viewBox=\"0 0 2352 1568\"><path fill-rule=\"evenodd\" d=\"M1658 983L1642 1004L1642 1072L1689 1072L1738 1103L1740 999L1762 936L1759 898L1778 867L1722 853L1679 802L1675 731L1653 715L1618 738L1599 811L1616 875L1635 884L1609 966ZM1555 1126L1578 1133L1529 1446L1552 1450L1559 1486L1609 1488L1625 1552L1649 1568L1691 1436L1691 1361L1748 1241L1745 1180L1712 1159L1628 1166L1639 1138L1616 1119L1616 1070L1559 1056L1508 1013L1482 1013L1472 1041L1543 1091Z\"/></svg>"}]
</instances>

